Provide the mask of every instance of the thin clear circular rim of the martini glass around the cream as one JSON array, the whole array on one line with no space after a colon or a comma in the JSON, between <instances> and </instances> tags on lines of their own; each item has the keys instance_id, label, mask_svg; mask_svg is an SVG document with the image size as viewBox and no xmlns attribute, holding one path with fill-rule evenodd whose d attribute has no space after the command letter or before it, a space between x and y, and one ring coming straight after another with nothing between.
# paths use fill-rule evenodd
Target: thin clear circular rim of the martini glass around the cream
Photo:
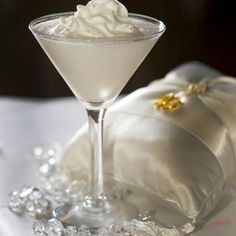
<instances>
[{"instance_id":1,"label":"thin clear circular rim of the martini glass around the cream","mask_svg":"<svg viewBox=\"0 0 236 236\"><path fill-rule=\"evenodd\" d=\"M43 33L40 32L38 30L33 29L33 27L39 23L48 21L48 20L53 20L53 19L58 19L62 16L71 16L72 14L74 14L75 11L70 11L70 12L62 12L62 13L54 13L54 14L49 14L49 15L45 15L45 16L41 16L38 17L34 20L32 20L29 23L29 29L31 30L32 33L38 35L38 36L42 36L44 38L47 39L51 39L51 40L57 40L57 41L64 41L64 42L104 42L104 43L109 43L109 42L128 42L128 41L141 41L141 40L145 40L145 39L151 39L151 38L156 38L156 37L160 37L166 30L166 26L165 24L154 18L154 17L150 17L150 16L146 16L146 15L142 15L142 14L136 14L136 13L129 13L130 17L133 18L139 18L139 19L143 19L146 20L148 22L151 22L153 24L155 24L158 27L155 27L155 30L152 30L150 33L147 34L143 34L143 35L137 35L134 37L130 37L130 38L124 38L124 37L116 37L114 40L112 40L112 37L99 37L99 38L95 38L95 37L81 37L81 38L73 38L73 37L63 37L63 36L55 36L55 35L51 35L48 33Z\"/></svg>"}]
</instances>

